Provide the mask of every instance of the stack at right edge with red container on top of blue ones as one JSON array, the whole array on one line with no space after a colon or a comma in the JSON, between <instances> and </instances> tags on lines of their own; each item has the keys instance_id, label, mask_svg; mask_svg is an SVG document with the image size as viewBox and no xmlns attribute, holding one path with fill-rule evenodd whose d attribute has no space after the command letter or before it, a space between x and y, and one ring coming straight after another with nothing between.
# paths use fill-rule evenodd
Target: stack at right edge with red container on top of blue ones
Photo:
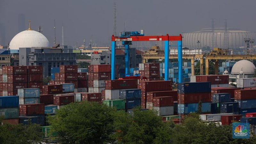
<instances>
[{"instance_id":1,"label":"stack at right edge with red container on top of blue ones","mask_svg":"<svg viewBox=\"0 0 256 144\"><path fill-rule=\"evenodd\" d=\"M235 100L239 103L240 114L256 112L256 89L235 90Z\"/></svg>"}]
</instances>

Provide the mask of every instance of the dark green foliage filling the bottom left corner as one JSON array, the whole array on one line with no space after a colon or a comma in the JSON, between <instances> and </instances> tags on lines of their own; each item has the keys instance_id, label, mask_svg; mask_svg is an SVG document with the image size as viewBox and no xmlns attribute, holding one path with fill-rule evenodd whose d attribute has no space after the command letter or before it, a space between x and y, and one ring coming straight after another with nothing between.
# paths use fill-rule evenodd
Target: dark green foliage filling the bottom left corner
<instances>
[{"instance_id":1,"label":"dark green foliage filling the bottom left corner","mask_svg":"<svg viewBox=\"0 0 256 144\"><path fill-rule=\"evenodd\" d=\"M2 144L30 144L42 141L42 136L43 132L39 124L4 123L0 125L0 143Z\"/></svg>"}]
</instances>

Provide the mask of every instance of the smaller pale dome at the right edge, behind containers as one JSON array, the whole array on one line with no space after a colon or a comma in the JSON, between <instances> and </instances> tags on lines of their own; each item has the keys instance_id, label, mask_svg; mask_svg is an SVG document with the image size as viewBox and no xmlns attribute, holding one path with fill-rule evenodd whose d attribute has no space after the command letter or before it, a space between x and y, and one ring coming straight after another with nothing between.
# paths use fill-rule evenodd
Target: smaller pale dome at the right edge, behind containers
<instances>
[{"instance_id":1,"label":"smaller pale dome at the right edge, behind containers","mask_svg":"<svg viewBox=\"0 0 256 144\"><path fill-rule=\"evenodd\" d=\"M248 60L240 60L237 61L232 70L231 74L245 74L245 75L253 75L255 70L255 66L251 61Z\"/></svg>"}]
</instances>

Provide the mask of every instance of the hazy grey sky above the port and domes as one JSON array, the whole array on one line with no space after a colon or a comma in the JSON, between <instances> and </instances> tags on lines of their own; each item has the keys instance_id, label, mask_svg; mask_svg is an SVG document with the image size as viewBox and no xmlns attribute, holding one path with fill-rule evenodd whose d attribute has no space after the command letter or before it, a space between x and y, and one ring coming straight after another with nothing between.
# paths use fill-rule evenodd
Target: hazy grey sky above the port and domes
<instances>
[{"instance_id":1,"label":"hazy grey sky above the port and domes","mask_svg":"<svg viewBox=\"0 0 256 144\"><path fill-rule=\"evenodd\" d=\"M111 44L116 2L116 32L145 30L145 35L199 31L211 28L240 28L256 31L256 0L0 0L0 23L6 28L6 44L18 33L18 15L25 14L31 28L39 25L50 45L54 43L54 19L56 42L61 44L62 22L64 44L86 45L90 39L97 46ZM24 29L25 30L25 29Z\"/></svg>"}]
</instances>

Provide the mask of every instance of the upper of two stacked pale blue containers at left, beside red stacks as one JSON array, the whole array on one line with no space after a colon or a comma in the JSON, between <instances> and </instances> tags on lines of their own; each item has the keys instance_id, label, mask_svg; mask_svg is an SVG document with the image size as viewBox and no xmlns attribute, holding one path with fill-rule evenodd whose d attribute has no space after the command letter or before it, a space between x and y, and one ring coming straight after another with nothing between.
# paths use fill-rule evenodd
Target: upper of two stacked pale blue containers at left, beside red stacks
<instances>
[{"instance_id":1,"label":"upper of two stacked pale blue containers at left, beside red stacks","mask_svg":"<svg viewBox=\"0 0 256 144\"><path fill-rule=\"evenodd\" d=\"M18 89L20 98L37 98L40 96L39 88Z\"/></svg>"}]
</instances>

